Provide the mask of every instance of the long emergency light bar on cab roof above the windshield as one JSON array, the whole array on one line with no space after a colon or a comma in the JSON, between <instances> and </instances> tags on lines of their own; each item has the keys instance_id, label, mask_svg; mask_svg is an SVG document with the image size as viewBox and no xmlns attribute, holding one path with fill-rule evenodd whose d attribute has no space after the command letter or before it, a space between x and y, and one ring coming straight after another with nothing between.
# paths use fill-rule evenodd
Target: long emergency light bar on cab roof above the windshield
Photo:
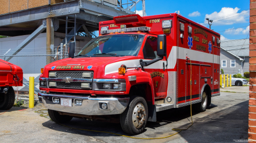
<instances>
[{"instance_id":1,"label":"long emergency light bar on cab roof above the windshield","mask_svg":"<svg viewBox=\"0 0 256 143\"><path fill-rule=\"evenodd\" d=\"M116 32L138 32L138 31L147 31L150 32L151 31L151 27L146 27L146 26L142 26L142 27L131 27L131 28L120 28L120 29L115 29L115 30L102 30L104 29L103 27L101 27L101 31L100 34L110 34L110 33L116 33Z\"/></svg>"}]
</instances>

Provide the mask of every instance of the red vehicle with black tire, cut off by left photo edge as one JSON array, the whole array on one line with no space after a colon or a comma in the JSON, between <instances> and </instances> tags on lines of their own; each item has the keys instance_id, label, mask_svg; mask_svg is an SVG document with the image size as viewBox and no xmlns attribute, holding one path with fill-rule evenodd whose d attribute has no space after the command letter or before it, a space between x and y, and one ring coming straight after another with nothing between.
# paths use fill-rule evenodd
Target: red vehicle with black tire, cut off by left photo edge
<instances>
[{"instance_id":1,"label":"red vehicle with black tire, cut off by left photo edge","mask_svg":"<svg viewBox=\"0 0 256 143\"><path fill-rule=\"evenodd\" d=\"M22 68L0 59L0 110L10 109L15 100L13 86L22 86Z\"/></svg>"}]
</instances>

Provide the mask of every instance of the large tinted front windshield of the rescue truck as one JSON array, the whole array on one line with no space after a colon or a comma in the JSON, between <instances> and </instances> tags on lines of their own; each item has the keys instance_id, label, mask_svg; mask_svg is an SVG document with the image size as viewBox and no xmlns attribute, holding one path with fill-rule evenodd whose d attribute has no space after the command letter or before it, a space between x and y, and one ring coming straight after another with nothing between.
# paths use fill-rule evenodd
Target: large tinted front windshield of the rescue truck
<instances>
[{"instance_id":1,"label":"large tinted front windshield of the rescue truck","mask_svg":"<svg viewBox=\"0 0 256 143\"><path fill-rule=\"evenodd\" d=\"M137 56L144 35L118 34L106 35L95 38L84 46L77 55L88 56Z\"/></svg>"}]
</instances>

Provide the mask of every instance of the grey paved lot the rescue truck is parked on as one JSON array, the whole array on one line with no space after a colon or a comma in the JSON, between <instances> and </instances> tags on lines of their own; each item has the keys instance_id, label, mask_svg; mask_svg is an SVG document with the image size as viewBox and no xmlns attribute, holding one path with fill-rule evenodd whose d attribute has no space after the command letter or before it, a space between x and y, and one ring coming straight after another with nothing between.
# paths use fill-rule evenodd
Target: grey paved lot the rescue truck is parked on
<instances>
[{"instance_id":1,"label":"grey paved lot the rescue truck is parked on","mask_svg":"<svg viewBox=\"0 0 256 143\"><path fill-rule=\"evenodd\" d=\"M164 139L133 139L108 133L67 128L40 117L32 109L13 107L0 110L1 142L234 142L248 138L248 93L226 93L212 98L205 112L194 112L194 125L188 130ZM135 137L163 137L175 133L172 128L190 124L188 108L157 113L157 122L148 122L145 132ZM85 121L73 118L65 124L74 128L108 131L124 134L114 123Z\"/></svg>"}]
</instances>

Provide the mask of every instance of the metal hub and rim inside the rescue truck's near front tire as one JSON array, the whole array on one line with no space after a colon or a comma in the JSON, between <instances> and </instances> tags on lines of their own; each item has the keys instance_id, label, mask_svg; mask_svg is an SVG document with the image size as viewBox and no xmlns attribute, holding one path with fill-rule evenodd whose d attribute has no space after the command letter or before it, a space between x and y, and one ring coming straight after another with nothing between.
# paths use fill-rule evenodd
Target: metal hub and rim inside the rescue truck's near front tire
<instances>
[{"instance_id":1,"label":"metal hub and rim inside the rescue truck's near front tire","mask_svg":"<svg viewBox=\"0 0 256 143\"><path fill-rule=\"evenodd\" d=\"M145 108L143 104L138 103L133 109L132 121L135 128L140 128L145 122Z\"/></svg>"}]
</instances>

